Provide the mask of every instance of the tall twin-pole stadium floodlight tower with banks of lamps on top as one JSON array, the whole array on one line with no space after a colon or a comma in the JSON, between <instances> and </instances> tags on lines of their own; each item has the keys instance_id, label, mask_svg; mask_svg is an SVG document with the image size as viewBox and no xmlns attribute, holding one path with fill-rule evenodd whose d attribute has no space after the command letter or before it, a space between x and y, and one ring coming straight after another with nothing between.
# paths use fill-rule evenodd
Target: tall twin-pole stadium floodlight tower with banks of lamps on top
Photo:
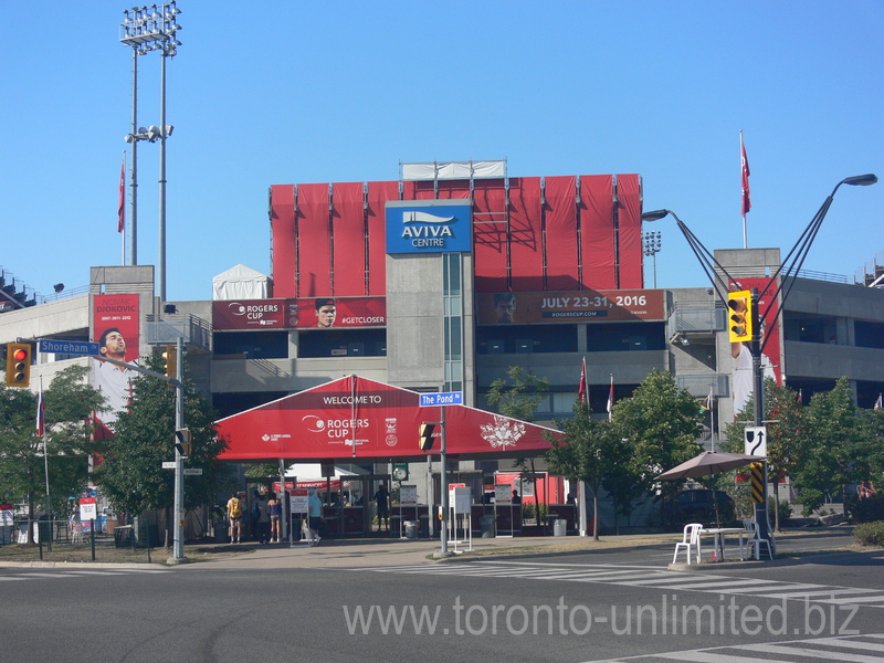
<instances>
[{"instance_id":1,"label":"tall twin-pole stadium floodlight tower with banks of lamps on top","mask_svg":"<svg viewBox=\"0 0 884 663\"><path fill-rule=\"evenodd\" d=\"M119 41L133 49L131 83L131 133L126 141L131 144L131 223L129 231L129 261L138 263L138 210L137 210L137 144L138 140L155 143L159 140L159 259L157 262L157 290L161 302L166 301L166 138L171 136L172 127L166 124L166 59L178 53L177 34L181 30L177 17L181 10L175 0L165 4L151 4L149 8L133 7L124 10L124 20L119 24ZM159 126L149 129L137 128L138 116L138 56L150 51L160 51L160 113ZM151 130L152 129L152 130Z\"/></svg>"}]
</instances>

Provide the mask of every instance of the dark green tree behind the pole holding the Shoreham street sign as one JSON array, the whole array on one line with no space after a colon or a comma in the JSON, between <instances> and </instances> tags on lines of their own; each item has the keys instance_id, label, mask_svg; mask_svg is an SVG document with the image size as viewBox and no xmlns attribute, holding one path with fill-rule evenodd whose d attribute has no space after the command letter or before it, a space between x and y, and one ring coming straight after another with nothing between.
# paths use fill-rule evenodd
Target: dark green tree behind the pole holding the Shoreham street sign
<instances>
[{"instance_id":1,"label":"dark green tree behind the pole holding the Shoreham street sign","mask_svg":"<svg viewBox=\"0 0 884 663\"><path fill-rule=\"evenodd\" d=\"M161 373L165 360L150 355L144 366ZM144 511L170 509L175 504L175 472L162 470L162 462L175 460L176 391L150 376L133 383L129 411L120 412L95 477L120 513L137 516ZM201 476L185 478L188 509L211 504L215 494L232 487L229 465L218 460L227 443L218 438L214 419L209 403L185 380L185 424L192 435L192 452L185 466L202 469Z\"/></svg>"}]
</instances>

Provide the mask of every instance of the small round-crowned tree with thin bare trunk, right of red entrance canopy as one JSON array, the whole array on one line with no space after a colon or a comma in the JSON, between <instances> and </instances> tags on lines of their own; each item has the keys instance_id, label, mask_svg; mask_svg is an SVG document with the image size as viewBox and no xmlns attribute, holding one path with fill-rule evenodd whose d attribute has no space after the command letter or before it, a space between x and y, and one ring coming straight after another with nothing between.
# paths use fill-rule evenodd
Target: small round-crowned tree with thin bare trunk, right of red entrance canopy
<instances>
[{"instance_id":1,"label":"small round-crowned tree with thin bare trunk, right of red entrance canopy","mask_svg":"<svg viewBox=\"0 0 884 663\"><path fill-rule=\"evenodd\" d=\"M586 401L575 402L573 417L557 421L556 427L565 433L562 438L544 433L552 445L546 452L549 470L568 481L586 482L592 491L592 538L599 540L599 490L624 467L627 442L611 422L592 419Z\"/></svg>"}]
</instances>

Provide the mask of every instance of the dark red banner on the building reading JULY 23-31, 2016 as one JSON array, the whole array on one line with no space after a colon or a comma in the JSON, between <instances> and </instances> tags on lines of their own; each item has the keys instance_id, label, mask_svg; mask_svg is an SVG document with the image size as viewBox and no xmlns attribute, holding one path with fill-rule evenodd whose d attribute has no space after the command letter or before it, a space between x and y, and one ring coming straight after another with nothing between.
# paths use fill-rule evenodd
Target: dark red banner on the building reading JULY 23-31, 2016
<instances>
[{"instance_id":1,"label":"dark red banner on the building reading JULY 23-31, 2016","mask_svg":"<svg viewBox=\"0 0 884 663\"><path fill-rule=\"evenodd\" d=\"M480 293L478 324L663 320L663 291Z\"/></svg>"}]
</instances>

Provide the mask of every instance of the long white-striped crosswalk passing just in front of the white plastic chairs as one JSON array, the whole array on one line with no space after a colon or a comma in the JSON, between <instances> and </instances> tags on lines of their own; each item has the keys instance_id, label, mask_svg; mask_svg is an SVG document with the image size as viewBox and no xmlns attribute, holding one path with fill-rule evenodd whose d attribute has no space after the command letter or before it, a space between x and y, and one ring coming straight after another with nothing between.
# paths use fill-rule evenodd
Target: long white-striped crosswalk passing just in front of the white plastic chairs
<instances>
[{"instance_id":1,"label":"long white-striped crosswalk passing just in front of the white plastic chairs","mask_svg":"<svg viewBox=\"0 0 884 663\"><path fill-rule=\"evenodd\" d=\"M365 570L365 569L352 569ZM884 608L884 592L869 588L838 587L810 582L788 582L758 578L735 578L701 572L673 572L651 567L544 565L543 562L467 561L448 565L408 565L370 569L387 573L467 576L600 582L656 590L701 591L718 594L753 596L767 599L812 600L817 603L861 604ZM863 596L860 596L863 594Z\"/></svg>"}]
</instances>

